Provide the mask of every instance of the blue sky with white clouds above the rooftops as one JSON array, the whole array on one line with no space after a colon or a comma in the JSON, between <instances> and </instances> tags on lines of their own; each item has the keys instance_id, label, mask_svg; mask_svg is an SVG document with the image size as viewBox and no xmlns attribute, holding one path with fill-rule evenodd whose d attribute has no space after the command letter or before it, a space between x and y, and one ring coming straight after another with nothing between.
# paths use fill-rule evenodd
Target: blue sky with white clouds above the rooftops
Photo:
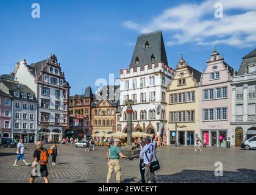
<instances>
[{"instance_id":1,"label":"blue sky with white clouds above the rooftops","mask_svg":"<svg viewBox=\"0 0 256 195\"><path fill-rule=\"evenodd\" d=\"M40 18L32 17L34 3ZM256 0L1 0L0 74L12 72L21 59L30 64L54 53L70 95L88 85L94 93L102 85L98 79L111 84L109 74L116 79L128 68L138 35L156 30L162 30L171 68L183 54L202 72L216 46L238 70L256 48L255 18Z\"/></svg>"}]
</instances>

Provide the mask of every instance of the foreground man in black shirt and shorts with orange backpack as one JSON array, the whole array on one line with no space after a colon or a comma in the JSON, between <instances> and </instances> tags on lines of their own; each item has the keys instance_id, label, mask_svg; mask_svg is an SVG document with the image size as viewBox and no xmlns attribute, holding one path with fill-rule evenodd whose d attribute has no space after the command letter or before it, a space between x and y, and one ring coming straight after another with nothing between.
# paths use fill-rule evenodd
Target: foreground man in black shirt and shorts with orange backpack
<instances>
[{"instance_id":1,"label":"foreground man in black shirt and shorts with orange backpack","mask_svg":"<svg viewBox=\"0 0 256 195\"><path fill-rule=\"evenodd\" d=\"M29 183L34 183L35 178L40 176L43 177L44 183L49 183L48 179L48 169L47 169L47 163L48 163L48 151L43 148L43 143L41 141L37 141L36 143L37 149L35 149L34 152L34 162L32 163L32 167L34 167L34 170L31 172L31 176L29 177ZM39 166L39 168L38 168ZM37 172L39 170L40 172Z\"/></svg>"}]
</instances>

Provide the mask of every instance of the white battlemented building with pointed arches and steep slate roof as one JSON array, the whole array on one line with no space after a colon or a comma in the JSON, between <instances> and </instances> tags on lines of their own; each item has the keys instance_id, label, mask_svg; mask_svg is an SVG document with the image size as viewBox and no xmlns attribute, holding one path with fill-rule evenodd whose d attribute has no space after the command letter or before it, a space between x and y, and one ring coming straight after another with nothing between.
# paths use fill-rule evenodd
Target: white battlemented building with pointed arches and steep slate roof
<instances>
[{"instance_id":1,"label":"white battlemented building with pointed arches and steep slate roof","mask_svg":"<svg viewBox=\"0 0 256 195\"><path fill-rule=\"evenodd\" d=\"M162 32L139 35L129 68L120 71L121 130L127 130L126 101L132 99L132 131L151 133L165 144L166 90L175 71L169 68Z\"/></svg>"}]
</instances>

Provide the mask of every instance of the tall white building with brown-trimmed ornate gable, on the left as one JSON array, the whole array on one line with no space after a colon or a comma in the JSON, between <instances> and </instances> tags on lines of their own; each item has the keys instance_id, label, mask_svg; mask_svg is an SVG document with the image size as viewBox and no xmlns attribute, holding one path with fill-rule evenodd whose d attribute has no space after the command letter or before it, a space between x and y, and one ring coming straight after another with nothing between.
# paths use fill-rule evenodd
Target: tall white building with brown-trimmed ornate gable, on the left
<instances>
[{"instance_id":1,"label":"tall white building with brown-trimmed ornate gable, on the left","mask_svg":"<svg viewBox=\"0 0 256 195\"><path fill-rule=\"evenodd\" d=\"M36 94L38 140L61 140L62 133L68 128L70 87L57 57L52 54L49 59L31 65L27 65L26 60L21 60L16 63L14 74L16 80L27 85Z\"/></svg>"}]
</instances>

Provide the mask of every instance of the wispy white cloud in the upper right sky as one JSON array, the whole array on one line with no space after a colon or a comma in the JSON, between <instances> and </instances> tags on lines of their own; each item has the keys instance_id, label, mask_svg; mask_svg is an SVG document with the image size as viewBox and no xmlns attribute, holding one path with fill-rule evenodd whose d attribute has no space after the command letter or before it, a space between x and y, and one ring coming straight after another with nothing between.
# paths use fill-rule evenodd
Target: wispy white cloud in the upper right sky
<instances>
[{"instance_id":1,"label":"wispy white cloud in the upper right sky","mask_svg":"<svg viewBox=\"0 0 256 195\"><path fill-rule=\"evenodd\" d=\"M215 4L223 5L223 18L215 18ZM141 34L155 30L171 33L166 45L195 43L201 45L256 45L256 1L219 0L201 4L180 4L154 16L148 23L126 21L123 25Z\"/></svg>"}]
</instances>

